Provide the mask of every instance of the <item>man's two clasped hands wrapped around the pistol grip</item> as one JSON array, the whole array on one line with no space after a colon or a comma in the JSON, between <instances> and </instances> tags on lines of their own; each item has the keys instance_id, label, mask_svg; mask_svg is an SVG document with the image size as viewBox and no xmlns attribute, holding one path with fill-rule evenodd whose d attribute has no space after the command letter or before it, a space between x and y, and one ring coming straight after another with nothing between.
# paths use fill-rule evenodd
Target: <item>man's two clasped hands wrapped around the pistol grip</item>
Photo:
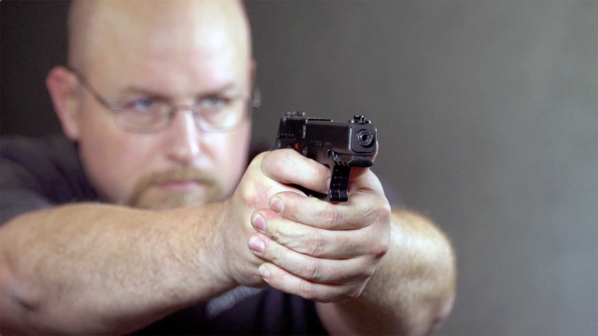
<instances>
[{"instance_id":1,"label":"man's two clasped hands wrapped around the pistol grip","mask_svg":"<svg viewBox=\"0 0 598 336\"><path fill-rule=\"evenodd\" d=\"M259 163L263 176L257 179L250 167L243 177L255 178L245 205L255 209L251 223L259 232L248 245L261 259L251 264L261 264L269 285L309 300L358 297L389 245L390 206L376 175L354 168L349 201L329 203L288 186L328 192L329 168L294 150L256 159L252 165Z\"/></svg>"}]
</instances>

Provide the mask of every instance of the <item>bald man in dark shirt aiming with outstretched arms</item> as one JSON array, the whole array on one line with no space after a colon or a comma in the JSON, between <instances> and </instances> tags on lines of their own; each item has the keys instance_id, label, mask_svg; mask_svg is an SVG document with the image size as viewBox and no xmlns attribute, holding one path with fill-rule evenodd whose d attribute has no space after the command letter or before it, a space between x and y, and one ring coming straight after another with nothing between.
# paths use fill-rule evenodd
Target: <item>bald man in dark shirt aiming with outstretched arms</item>
<instances>
[{"instance_id":1,"label":"bald man in dark shirt aiming with outstretched arms","mask_svg":"<svg viewBox=\"0 0 598 336\"><path fill-rule=\"evenodd\" d=\"M254 76L237 2L74 3L47 86L78 156L2 141L2 334L426 334L446 318L450 244L391 213L373 172L330 204L290 186L330 178L293 150L246 166Z\"/></svg>"}]
</instances>

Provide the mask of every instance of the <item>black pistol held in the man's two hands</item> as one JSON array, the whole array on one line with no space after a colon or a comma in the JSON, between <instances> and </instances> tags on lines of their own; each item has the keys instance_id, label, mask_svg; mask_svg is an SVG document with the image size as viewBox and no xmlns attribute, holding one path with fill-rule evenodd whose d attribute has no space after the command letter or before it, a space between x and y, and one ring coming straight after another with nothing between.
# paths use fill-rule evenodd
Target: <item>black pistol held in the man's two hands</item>
<instances>
[{"instance_id":1,"label":"black pistol held in the man's two hands","mask_svg":"<svg viewBox=\"0 0 598 336\"><path fill-rule=\"evenodd\" d=\"M280 119L275 149L292 148L327 165L332 178L328 195L294 186L309 196L331 202L346 202L351 167L371 167L376 153L376 127L362 115L348 122L307 118L305 112L290 111Z\"/></svg>"}]
</instances>

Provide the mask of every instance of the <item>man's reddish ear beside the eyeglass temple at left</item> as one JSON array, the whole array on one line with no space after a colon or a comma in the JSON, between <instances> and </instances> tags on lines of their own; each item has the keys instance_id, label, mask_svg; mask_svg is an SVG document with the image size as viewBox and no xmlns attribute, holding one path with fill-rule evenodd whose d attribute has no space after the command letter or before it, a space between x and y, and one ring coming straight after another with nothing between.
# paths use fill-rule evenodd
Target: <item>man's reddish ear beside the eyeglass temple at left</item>
<instances>
[{"instance_id":1,"label":"man's reddish ear beside the eyeglass temple at left","mask_svg":"<svg viewBox=\"0 0 598 336\"><path fill-rule=\"evenodd\" d=\"M62 130L72 141L79 140L80 97L77 96L77 76L66 67L56 66L48 73L45 85Z\"/></svg>"}]
</instances>

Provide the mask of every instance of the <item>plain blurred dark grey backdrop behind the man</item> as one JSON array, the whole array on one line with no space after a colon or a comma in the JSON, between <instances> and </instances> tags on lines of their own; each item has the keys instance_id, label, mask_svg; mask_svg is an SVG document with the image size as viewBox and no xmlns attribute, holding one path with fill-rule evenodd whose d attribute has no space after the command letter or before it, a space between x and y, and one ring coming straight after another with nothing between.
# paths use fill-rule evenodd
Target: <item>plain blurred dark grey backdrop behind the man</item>
<instances>
[{"instance_id":1,"label":"plain blurred dark grey backdrop behind the man","mask_svg":"<svg viewBox=\"0 0 598 336\"><path fill-rule=\"evenodd\" d=\"M598 333L598 2L247 2L263 104L372 119L376 171L457 251L447 335ZM68 2L0 3L2 135L60 132Z\"/></svg>"}]
</instances>

